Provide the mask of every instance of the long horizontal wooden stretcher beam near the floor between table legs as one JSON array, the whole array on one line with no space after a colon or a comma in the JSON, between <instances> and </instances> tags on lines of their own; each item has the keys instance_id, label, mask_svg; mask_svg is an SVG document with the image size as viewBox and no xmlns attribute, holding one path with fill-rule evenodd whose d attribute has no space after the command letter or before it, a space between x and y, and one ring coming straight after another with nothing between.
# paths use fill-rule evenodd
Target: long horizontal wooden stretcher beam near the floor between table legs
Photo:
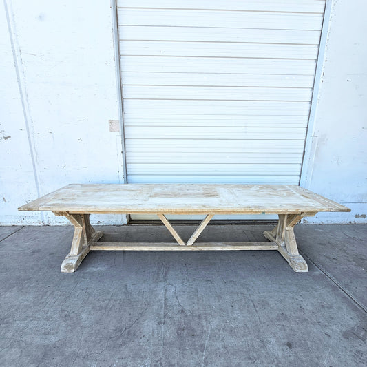
<instances>
[{"instance_id":1,"label":"long horizontal wooden stretcher beam near the floor between table legs","mask_svg":"<svg viewBox=\"0 0 367 367\"><path fill-rule=\"evenodd\" d=\"M199 242L180 246L176 242L94 242L90 251L235 251L277 250L275 242Z\"/></svg>"}]
</instances>

